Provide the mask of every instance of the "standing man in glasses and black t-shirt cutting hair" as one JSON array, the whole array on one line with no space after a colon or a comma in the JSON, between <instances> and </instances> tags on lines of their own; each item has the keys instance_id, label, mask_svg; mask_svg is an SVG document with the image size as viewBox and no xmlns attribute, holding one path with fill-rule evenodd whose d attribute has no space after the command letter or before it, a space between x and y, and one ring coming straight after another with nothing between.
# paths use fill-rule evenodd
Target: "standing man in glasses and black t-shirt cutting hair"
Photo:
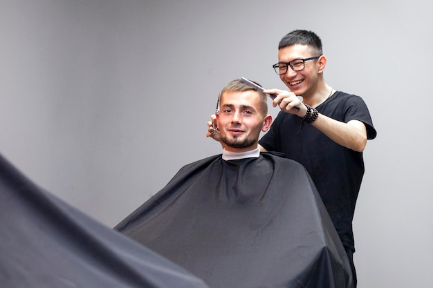
<instances>
[{"instance_id":1,"label":"standing man in glasses and black t-shirt cutting hair","mask_svg":"<svg viewBox=\"0 0 433 288\"><path fill-rule=\"evenodd\" d=\"M376 130L361 97L326 84L325 66L322 41L314 32L294 30L282 38L273 68L289 90L264 91L277 95L273 106L281 111L259 148L282 152L305 166L346 249L356 282L352 220L364 175L362 151ZM213 133L214 115L211 119L207 135L221 141Z\"/></svg>"}]
</instances>

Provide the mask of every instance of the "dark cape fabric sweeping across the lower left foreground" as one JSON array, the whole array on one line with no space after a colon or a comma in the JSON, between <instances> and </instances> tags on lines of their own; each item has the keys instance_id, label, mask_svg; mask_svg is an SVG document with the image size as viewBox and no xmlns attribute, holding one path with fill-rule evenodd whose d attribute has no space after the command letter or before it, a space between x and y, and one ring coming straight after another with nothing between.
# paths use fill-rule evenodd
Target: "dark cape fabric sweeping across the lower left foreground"
<instances>
[{"instance_id":1,"label":"dark cape fabric sweeping across the lower left foreground","mask_svg":"<svg viewBox=\"0 0 433 288\"><path fill-rule=\"evenodd\" d=\"M39 189L0 156L1 288L206 288Z\"/></svg>"}]
</instances>

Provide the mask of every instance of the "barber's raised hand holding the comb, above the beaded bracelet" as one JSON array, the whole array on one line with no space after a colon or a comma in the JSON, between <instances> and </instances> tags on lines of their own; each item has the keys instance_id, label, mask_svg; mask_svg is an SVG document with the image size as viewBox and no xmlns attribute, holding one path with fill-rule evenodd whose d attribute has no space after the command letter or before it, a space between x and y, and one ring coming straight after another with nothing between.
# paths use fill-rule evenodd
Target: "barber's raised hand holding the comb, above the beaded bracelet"
<instances>
[{"instance_id":1,"label":"barber's raised hand holding the comb, above the beaded bracelet","mask_svg":"<svg viewBox=\"0 0 433 288\"><path fill-rule=\"evenodd\" d=\"M295 93L279 89L268 89L263 92L266 94L277 95L277 97L273 99L272 106L279 106L282 111L298 115L299 117L304 117L306 115L306 106L295 95Z\"/></svg>"}]
</instances>

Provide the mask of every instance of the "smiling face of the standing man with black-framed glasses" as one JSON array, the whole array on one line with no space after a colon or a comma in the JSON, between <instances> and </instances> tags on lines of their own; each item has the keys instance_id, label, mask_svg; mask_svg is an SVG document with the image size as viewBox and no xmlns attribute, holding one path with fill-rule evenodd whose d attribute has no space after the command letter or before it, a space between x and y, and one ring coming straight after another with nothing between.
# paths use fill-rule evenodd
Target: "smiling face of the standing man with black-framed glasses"
<instances>
[{"instance_id":1,"label":"smiling face of the standing man with black-framed glasses","mask_svg":"<svg viewBox=\"0 0 433 288\"><path fill-rule=\"evenodd\" d=\"M278 50L279 62L290 62L295 59L306 59L315 57L315 53L305 45L291 45ZM287 73L279 75L284 84L298 96L308 96L308 92L314 90L318 78L318 59L305 61L305 68L300 71L293 71L287 68Z\"/></svg>"}]
</instances>

